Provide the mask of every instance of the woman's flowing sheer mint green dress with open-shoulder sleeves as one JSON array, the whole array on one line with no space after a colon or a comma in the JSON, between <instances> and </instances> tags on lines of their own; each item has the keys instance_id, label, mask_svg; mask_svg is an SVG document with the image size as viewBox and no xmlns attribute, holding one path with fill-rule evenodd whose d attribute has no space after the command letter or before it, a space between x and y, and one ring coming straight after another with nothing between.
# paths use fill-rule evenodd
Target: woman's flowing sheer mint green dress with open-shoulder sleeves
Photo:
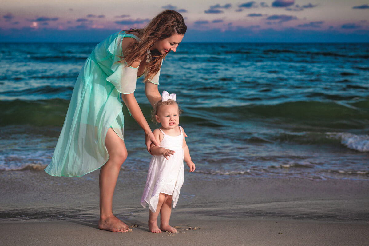
<instances>
[{"instance_id":1,"label":"woman's flowing sheer mint green dress with open-shoulder sleeves","mask_svg":"<svg viewBox=\"0 0 369 246\"><path fill-rule=\"evenodd\" d=\"M83 176L109 159L105 146L108 128L124 140L124 117L120 93L135 91L137 68L119 63L123 38L117 32L96 45L76 80L64 125L46 173L52 176ZM149 80L159 84L160 71Z\"/></svg>"}]
</instances>

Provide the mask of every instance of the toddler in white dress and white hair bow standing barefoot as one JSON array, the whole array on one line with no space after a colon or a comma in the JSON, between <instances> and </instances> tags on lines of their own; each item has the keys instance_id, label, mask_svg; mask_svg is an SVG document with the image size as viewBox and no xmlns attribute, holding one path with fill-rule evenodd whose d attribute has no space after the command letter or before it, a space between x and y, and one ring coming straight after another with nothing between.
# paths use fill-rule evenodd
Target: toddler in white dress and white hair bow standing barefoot
<instances>
[{"instance_id":1,"label":"toddler in white dress and white hair bow standing barefoot","mask_svg":"<svg viewBox=\"0 0 369 246\"><path fill-rule=\"evenodd\" d=\"M153 132L160 145L151 144L153 156L149 164L141 205L144 208L146 202L149 205L149 231L154 233L177 232L169 225L169 218L172 205L173 208L176 206L183 184L183 160L189 166L190 172L195 170L183 129L178 125L181 112L176 102L176 94L169 95L167 91L163 91L162 100L155 105L152 113L152 120L161 124L161 127ZM159 212L160 227L157 224Z\"/></svg>"}]
</instances>

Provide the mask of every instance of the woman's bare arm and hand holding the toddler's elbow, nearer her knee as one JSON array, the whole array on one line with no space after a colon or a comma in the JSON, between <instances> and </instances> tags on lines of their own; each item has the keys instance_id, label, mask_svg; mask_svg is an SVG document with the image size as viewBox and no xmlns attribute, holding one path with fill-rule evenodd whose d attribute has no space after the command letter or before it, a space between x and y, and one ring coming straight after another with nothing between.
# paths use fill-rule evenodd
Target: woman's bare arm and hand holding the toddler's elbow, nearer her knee
<instances>
[{"instance_id":1,"label":"woman's bare arm and hand holding the toddler's elbow, nearer her knee","mask_svg":"<svg viewBox=\"0 0 369 246\"><path fill-rule=\"evenodd\" d=\"M134 94L131 93L121 95L122 100L124 101L124 104L127 106L128 110L131 112L132 117L135 119L135 121L137 121L138 125L144 130L147 151L151 154L150 152L151 143L158 146L159 145L158 141L156 141L154 134L151 132L149 124L147 124L144 114L142 114L141 108L139 107Z\"/></svg>"}]
</instances>

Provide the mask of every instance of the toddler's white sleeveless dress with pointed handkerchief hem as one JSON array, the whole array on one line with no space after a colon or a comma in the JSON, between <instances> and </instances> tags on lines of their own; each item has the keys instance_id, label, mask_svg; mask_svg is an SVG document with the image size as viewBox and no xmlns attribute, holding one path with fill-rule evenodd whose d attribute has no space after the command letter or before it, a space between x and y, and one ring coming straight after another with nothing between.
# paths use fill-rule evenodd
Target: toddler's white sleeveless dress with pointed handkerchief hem
<instances>
[{"instance_id":1,"label":"toddler's white sleeveless dress with pointed handkerchief hem","mask_svg":"<svg viewBox=\"0 0 369 246\"><path fill-rule=\"evenodd\" d=\"M158 207L159 193L172 195L173 208L176 206L179 192L184 179L183 167L183 131L179 127L181 134L178 136L166 135L162 130L163 140L159 146L174 150L174 155L167 160L163 155L152 156L146 179L144 194L142 194L141 205L146 208L146 202L152 212L155 213Z\"/></svg>"}]
</instances>

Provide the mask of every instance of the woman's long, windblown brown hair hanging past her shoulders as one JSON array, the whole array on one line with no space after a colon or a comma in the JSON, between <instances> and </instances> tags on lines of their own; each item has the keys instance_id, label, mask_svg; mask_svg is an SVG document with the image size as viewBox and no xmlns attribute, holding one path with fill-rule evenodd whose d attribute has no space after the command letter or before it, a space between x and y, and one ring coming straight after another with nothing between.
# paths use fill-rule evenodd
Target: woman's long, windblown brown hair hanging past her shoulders
<instances>
[{"instance_id":1,"label":"woman's long, windblown brown hair hanging past her shoulders","mask_svg":"<svg viewBox=\"0 0 369 246\"><path fill-rule=\"evenodd\" d=\"M140 61L146 51L156 42L169 38L173 34L183 35L187 27L182 15L174 10L164 10L154 17L149 24L140 29L130 29L125 32L138 32L141 36L138 42L132 42L124 51L120 62L127 62L130 66L135 61ZM161 61L167 54L161 54L157 50L151 52L151 62L146 64L145 81L152 79L161 68Z\"/></svg>"}]
</instances>

